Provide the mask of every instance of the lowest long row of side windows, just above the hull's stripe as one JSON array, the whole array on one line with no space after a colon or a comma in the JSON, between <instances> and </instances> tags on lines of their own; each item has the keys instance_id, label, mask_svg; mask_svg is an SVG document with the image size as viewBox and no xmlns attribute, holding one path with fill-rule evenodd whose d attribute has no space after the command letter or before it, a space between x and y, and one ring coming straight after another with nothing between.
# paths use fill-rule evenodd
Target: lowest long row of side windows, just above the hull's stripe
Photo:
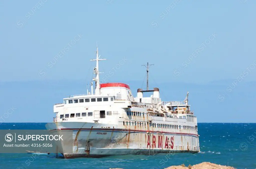
<instances>
[{"instance_id":1,"label":"lowest long row of side windows, just above the hull's stripe","mask_svg":"<svg viewBox=\"0 0 256 169\"><path fill-rule=\"evenodd\" d=\"M146 127L146 124L150 127L154 128L163 128L163 129L180 129L181 126L179 125L167 125L167 124L157 124L157 123L146 123L146 122L136 122L136 121L123 121L123 125L125 126L138 126L138 127ZM196 127L193 126L183 126L184 130L196 130Z\"/></svg>"}]
</instances>

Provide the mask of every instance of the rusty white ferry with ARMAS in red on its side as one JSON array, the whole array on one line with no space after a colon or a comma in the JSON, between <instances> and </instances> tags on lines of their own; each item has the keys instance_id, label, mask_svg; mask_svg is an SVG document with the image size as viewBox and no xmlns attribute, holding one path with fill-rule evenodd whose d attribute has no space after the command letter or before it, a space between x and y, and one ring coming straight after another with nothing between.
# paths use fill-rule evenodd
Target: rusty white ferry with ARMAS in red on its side
<instances>
[{"instance_id":1,"label":"rusty white ferry with ARMAS in red on its side","mask_svg":"<svg viewBox=\"0 0 256 169\"><path fill-rule=\"evenodd\" d=\"M200 151L197 117L183 101L162 101L159 88L137 89L125 83L100 83L98 47L91 89L54 105L49 130L72 131L72 151L65 140L58 147L64 158L110 155L155 155ZM90 87L89 87L90 88ZM150 92L150 97L144 95ZM70 141L69 141L70 142Z\"/></svg>"}]
</instances>

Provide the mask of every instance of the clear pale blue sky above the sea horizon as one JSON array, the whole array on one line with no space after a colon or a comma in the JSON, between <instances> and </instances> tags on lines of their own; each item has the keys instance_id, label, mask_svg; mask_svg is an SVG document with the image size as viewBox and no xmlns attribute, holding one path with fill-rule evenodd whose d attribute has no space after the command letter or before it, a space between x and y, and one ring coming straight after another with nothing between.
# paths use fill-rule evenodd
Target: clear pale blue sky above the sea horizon
<instances>
[{"instance_id":1,"label":"clear pale blue sky above the sea horizon","mask_svg":"<svg viewBox=\"0 0 256 169\"><path fill-rule=\"evenodd\" d=\"M127 83L136 95L149 62L150 87L164 101L189 91L198 122L255 122L255 7L251 0L1 1L0 123L52 121L55 103L86 93L96 45L107 59L99 63L102 83Z\"/></svg>"}]
</instances>

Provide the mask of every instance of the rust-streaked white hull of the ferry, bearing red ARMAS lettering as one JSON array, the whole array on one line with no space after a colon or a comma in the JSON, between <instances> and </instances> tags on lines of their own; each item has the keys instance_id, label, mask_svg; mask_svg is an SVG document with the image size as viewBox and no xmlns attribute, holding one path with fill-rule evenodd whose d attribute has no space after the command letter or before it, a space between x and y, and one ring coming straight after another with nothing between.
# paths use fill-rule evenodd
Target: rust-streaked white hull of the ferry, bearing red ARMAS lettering
<instances>
[{"instance_id":1,"label":"rust-streaked white hull of the ferry, bearing red ARMAS lettering","mask_svg":"<svg viewBox=\"0 0 256 169\"><path fill-rule=\"evenodd\" d=\"M110 127L109 124L88 122L51 123L48 129L72 131L72 140L63 140L58 147L64 152L64 158L199 152L198 135L183 133L182 130L154 131L152 127L122 128L117 125Z\"/></svg>"}]
</instances>

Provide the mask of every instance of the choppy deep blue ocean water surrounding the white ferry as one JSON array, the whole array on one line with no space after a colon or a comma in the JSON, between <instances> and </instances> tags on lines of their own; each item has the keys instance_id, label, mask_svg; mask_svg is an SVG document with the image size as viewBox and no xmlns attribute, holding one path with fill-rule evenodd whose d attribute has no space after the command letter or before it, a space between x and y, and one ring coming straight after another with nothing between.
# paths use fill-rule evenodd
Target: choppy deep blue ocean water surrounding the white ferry
<instances>
[{"instance_id":1,"label":"choppy deep blue ocean water surrounding the white ferry","mask_svg":"<svg viewBox=\"0 0 256 169\"><path fill-rule=\"evenodd\" d=\"M2 123L0 130L45 129L46 123ZM171 165L212 162L236 168L256 168L256 123L199 123L200 153L170 155L124 155L104 158L55 158L55 154L0 154L2 169L63 168L145 168L160 169ZM29 163L25 163L30 161ZM29 164L29 165L28 165Z\"/></svg>"}]
</instances>

